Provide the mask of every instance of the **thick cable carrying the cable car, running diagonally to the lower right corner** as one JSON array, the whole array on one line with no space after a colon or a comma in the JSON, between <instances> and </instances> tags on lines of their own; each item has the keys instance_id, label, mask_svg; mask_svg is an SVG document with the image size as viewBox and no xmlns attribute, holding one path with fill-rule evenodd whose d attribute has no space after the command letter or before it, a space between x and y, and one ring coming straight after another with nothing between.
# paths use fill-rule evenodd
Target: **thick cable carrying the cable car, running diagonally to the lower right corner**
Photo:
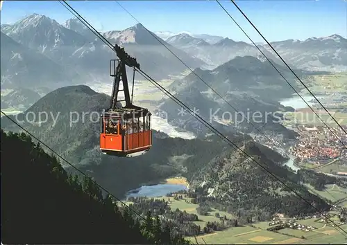
<instances>
[{"instance_id":1,"label":"thick cable carrying the cable car, running diagonally to the lower right corner","mask_svg":"<svg viewBox=\"0 0 347 245\"><path fill-rule=\"evenodd\" d=\"M66 3L64 1L64 3ZM69 6L69 8L71 8L72 10L74 10L74 8L72 8L71 6ZM74 10L74 12L76 12L76 10ZM87 21L85 21L87 22ZM89 24L89 23L88 23ZM90 24L89 24L90 25ZM86 25L87 26L87 25ZM91 26L91 25L90 25ZM88 27L88 26L87 26ZM94 28L93 28L94 29ZM94 29L95 30L95 29ZM94 33L95 34L95 33ZM97 37L99 37L99 35L97 35ZM105 39L105 37L103 37L101 35L101 37L99 38L103 38ZM112 51L114 51L113 47L112 47ZM218 131L217 129L215 129L212 125L210 125L208 122L206 122L203 118L201 118L201 116L198 116L194 113L194 111L192 109L190 109L189 107L187 107L183 102L181 102L180 100L178 100L175 96L173 96L169 91L167 91L167 89L164 89L164 87L162 87L160 84L158 84L158 82L156 82L153 78L151 78L149 75L147 75L146 73L144 73L144 71L142 71L141 69L137 70L141 75L144 76L144 78L146 78L147 80L149 80L149 82L152 82L153 84L156 84L158 87L160 87L160 89L162 91L165 91L167 94L169 94L171 96L171 99L174 100L176 103L178 103L178 105L185 107L187 110L189 110L191 112L191 115L194 116L194 118L198 119L201 123L203 122L203 124L208 127L209 129L211 129L214 134L217 134L217 136L219 136L220 138L222 138L223 140L226 141L226 143L228 143L228 145L230 145L231 147L236 147L237 149L239 149L240 152L242 152L245 156L248 156L248 158L250 158L252 161L254 161L255 163L257 163L258 166L260 166L263 170L265 170L267 173L269 173L271 176L273 176L273 178L275 178L277 181L280 181L280 183L282 183L282 185L284 185L286 188L288 188L289 190L291 190L291 192L293 192L294 194L296 194L296 196L298 196L300 199L303 199L303 201L305 201L309 206L312 206L312 208L314 208L317 212L321 213L321 215L323 217L325 217L326 219L328 219L330 222L332 222L332 224L335 224L334 221L332 221L332 219L330 219L329 217L325 216L318 208L314 207L312 205L312 203L310 203L309 201L307 201L306 199L304 199L303 197L301 197L300 194L298 194L296 191L292 190L286 183L284 183L282 180L280 180L275 174L271 173L269 170L266 169L266 167L262 166L260 163L258 163L257 161L255 161L254 158L252 158L251 156L249 156L246 152L244 152L244 150L242 150L240 147L238 147L235 143L233 143L231 140L228 139L228 137L224 136L220 131ZM335 228L339 227L335 224ZM341 227L339 227L344 233L347 234L347 232L342 229ZM337 228L336 228L337 229ZM341 231L338 230L340 233ZM346 236L346 235L345 235Z\"/></svg>"}]
</instances>

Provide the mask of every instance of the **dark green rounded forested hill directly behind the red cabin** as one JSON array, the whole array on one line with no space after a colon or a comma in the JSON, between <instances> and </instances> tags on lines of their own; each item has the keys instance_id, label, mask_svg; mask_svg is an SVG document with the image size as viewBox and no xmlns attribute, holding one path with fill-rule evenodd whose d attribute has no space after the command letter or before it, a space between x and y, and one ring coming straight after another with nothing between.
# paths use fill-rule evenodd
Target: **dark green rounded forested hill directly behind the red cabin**
<instances>
[{"instance_id":1,"label":"dark green rounded forested hill directly behind the red cabin","mask_svg":"<svg viewBox=\"0 0 347 245\"><path fill-rule=\"evenodd\" d=\"M96 180L119 195L149 181L159 181L176 174L189 176L222 150L224 143L221 140L212 143L205 140L167 138L154 131L153 147L141 157L141 162L136 158L105 156L99 150L97 113L108 108L109 102L109 96L96 93L87 86L63 87L38 100L22 116L18 116L18 120L24 120L25 115L28 115L28 120L33 120L35 114L36 123L24 122L22 126L71 163L89 170ZM44 111L48 118L42 114L42 123L39 124L38 115ZM79 114L78 122L74 111ZM92 111L95 113L90 120ZM7 118L1 118L1 127L6 131L18 131L18 127ZM183 160L178 161L176 158L179 157ZM67 167L65 163L62 164Z\"/></svg>"}]
</instances>

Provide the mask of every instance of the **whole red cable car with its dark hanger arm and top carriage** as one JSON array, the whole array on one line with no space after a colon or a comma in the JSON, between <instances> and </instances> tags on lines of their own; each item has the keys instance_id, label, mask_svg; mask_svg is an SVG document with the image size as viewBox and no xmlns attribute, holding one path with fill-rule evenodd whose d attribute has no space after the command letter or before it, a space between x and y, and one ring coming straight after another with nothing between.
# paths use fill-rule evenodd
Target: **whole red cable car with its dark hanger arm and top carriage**
<instances>
[{"instance_id":1,"label":"whole red cable car with its dark hanger arm and top carriage","mask_svg":"<svg viewBox=\"0 0 347 245\"><path fill-rule=\"evenodd\" d=\"M124 48L115 45L119 60L110 61L110 76L114 77L111 106L103 112L100 123L100 150L112 156L136 156L144 154L152 146L151 113L133 105L133 93L129 94L126 65L133 67L133 92L136 59L130 57ZM116 67L116 61L118 61ZM119 89L120 82L123 89ZM119 91L124 91L124 100L118 100ZM121 101L125 101L123 107Z\"/></svg>"}]
</instances>

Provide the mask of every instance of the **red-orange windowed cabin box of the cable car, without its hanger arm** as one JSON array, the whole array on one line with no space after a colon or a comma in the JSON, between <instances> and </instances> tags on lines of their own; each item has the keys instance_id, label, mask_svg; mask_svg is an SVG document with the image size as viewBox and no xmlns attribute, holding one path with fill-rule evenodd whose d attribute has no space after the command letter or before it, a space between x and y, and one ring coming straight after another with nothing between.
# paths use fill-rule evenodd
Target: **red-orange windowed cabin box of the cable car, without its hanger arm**
<instances>
[{"instance_id":1,"label":"red-orange windowed cabin box of the cable car, without its hanger arm","mask_svg":"<svg viewBox=\"0 0 347 245\"><path fill-rule=\"evenodd\" d=\"M114 156L135 156L146 153L151 145L151 113L146 109L137 111L121 109L103 114L101 152Z\"/></svg>"}]
</instances>

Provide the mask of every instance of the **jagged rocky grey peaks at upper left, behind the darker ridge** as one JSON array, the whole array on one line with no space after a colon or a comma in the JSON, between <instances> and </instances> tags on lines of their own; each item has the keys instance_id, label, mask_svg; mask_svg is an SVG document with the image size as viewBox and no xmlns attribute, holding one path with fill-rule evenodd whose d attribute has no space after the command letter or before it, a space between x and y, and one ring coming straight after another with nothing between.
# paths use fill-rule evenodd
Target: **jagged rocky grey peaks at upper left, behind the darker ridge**
<instances>
[{"instance_id":1,"label":"jagged rocky grey peaks at upper left, behind the darker ridge","mask_svg":"<svg viewBox=\"0 0 347 245\"><path fill-rule=\"evenodd\" d=\"M115 52L105 46L77 19L68 19L61 25L44 15L33 14L15 24L1 26L1 31L22 46L46 55L67 71L75 71L79 75L78 81L110 79L109 60L116 58ZM102 35L111 44L124 46L126 52L136 57L142 64L142 69L155 79L178 75L186 69L139 24L125 30L108 31ZM190 67L195 69L204 64L201 60L170 46L164 40L160 41L172 48Z\"/></svg>"}]
</instances>

